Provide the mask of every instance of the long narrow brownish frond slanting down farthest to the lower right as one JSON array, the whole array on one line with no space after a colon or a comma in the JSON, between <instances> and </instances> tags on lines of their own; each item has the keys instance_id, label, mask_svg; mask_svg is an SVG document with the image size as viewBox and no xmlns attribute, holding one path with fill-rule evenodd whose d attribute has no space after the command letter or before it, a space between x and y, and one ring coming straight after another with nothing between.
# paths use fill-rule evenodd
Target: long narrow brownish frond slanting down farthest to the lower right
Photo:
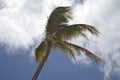
<instances>
[{"instance_id":1,"label":"long narrow brownish frond slanting down farthest to the lower right","mask_svg":"<svg viewBox=\"0 0 120 80\"><path fill-rule=\"evenodd\" d=\"M83 47L80 47L80 46L77 46L77 45L74 45L74 44L71 44L71 43L68 43L66 41L64 41L64 44L67 44L68 46L70 46L71 48L74 48L76 51L79 51L79 52L83 52L85 53L86 56L88 56L89 58L91 58L92 60L94 60L95 62L97 63L101 63L101 59L99 57L97 57L96 55L94 55L92 52L90 52L89 50L83 48Z\"/></svg>"}]
</instances>

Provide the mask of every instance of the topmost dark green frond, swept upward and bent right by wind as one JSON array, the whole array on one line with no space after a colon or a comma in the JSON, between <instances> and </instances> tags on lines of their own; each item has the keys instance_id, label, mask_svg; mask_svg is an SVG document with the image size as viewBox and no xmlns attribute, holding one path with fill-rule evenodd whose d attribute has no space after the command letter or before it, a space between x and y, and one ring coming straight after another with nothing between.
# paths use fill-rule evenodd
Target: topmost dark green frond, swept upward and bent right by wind
<instances>
[{"instance_id":1,"label":"topmost dark green frond, swept upward and bent right by wind","mask_svg":"<svg viewBox=\"0 0 120 80\"><path fill-rule=\"evenodd\" d=\"M71 19L71 7L58 7L50 15L46 31L54 33L60 24L67 23Z\"/></svg>"}]
</instances>

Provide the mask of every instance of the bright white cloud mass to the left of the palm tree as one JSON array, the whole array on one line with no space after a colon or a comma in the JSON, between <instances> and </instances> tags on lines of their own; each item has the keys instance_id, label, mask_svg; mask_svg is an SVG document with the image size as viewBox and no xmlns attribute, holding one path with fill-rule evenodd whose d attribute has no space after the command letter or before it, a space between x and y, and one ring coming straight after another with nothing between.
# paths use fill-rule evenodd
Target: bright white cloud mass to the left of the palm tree
<instances>
[{"instance_id":1,"label":"bright white cloud mass to the left of the palm tree","mask_svg":"<svg viewBox=\"0 0 120 80\"><path fill-rule=\"evenodd\" d=\"M36 3L32 1L2 1L6 6L0 10L0 45L28 49L34 44L34 39L44 31L42 26L46 18L41 16L42 10L36 8ZM37 7L42 9L41 5Z\"/></svg>"}]
</instances>

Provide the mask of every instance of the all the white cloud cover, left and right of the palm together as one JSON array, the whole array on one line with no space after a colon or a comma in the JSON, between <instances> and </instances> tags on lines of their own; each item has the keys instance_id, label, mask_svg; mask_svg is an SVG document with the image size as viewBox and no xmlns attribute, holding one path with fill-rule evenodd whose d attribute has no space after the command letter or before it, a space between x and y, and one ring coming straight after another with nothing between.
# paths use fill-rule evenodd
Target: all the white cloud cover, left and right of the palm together
<instances>
[{"instance_id":1,"label":"all the white cloud cover, left and right of the palm together","mask_svg":"<svg viewBox=\"0 0 120 80\"><path fill-rule=\"evenodd\" d=\"M76 4L76 2L84 4ZM81 45L100 56L105 79L120 74L120 10L119 0L0 0L0 46L11 49L29 49L43 38L46 21L57 6L74 6L72 23L87 23L100 31L100 36L88 34L89 41L76 39ZM41 39L40 39L41 38ZM85 56L76 56L88 64Z\"/></svg>"}]
</instances>

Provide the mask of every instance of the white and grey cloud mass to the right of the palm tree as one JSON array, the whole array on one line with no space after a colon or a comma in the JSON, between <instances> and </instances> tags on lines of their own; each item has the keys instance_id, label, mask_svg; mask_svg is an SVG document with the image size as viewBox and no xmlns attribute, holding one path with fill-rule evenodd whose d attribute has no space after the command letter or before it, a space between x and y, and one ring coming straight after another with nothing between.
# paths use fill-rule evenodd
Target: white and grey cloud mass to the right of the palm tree
<instances>
[{"instance_id":1,"label":"white and grey cloud mass to the right of the palm tree","mask_svg":"<svg viewBox=\"0 0 120 80\"><path fill-rule=\"evenodd\" d=\"M74 20L71 23L87 23L100 31L99 37L88 34L88 40L72 41L75 44L91 50L100 56L104 65L101 70L105 73L105 79L110 75L120 74L120 9L119 0L87 0L84 5L76 5ZM83 44L80 44L82 42ZM77 56L82 61L81 56Z\"/></svg>"}]
</instances>

